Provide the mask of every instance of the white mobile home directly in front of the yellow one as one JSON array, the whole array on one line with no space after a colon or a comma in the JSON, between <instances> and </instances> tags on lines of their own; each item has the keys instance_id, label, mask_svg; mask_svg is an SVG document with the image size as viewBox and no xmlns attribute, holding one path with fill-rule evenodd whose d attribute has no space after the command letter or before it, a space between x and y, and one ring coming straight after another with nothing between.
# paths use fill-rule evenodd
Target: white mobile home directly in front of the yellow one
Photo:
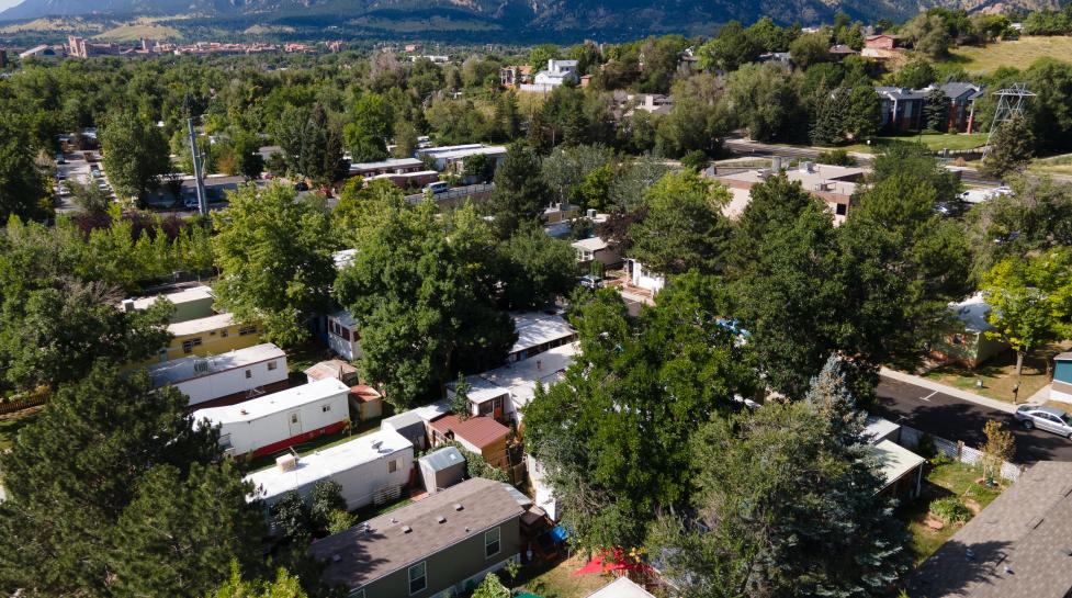
<instances>
[{"instance_id":1,"label":"white mobile home directly in front of the yellow one","mask_svg":"<svg viewBox=\"0 0 1072 598\"><path fill-rule=\"evenodd\" d=\"M190 406L224 404L282 391L287 384L286 353L268 342L218 356L191 356L148 369L156 387L170 384Z\"/></svg>"}]
</instances>

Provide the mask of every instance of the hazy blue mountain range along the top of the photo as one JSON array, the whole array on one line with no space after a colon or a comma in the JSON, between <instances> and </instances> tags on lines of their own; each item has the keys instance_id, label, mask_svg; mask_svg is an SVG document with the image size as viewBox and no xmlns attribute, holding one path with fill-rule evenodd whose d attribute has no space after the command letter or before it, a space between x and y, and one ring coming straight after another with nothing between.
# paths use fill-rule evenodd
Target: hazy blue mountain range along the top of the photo
<instances>
[{"instance_id":1,"label":"hazy blue mountain range along the top of the photo","mask_svg":"<svg viewBox=\"0 0 1072 598\"><path fill-rule=\"evenodd\" d=\"M43 16L182 16L194 25L286 25L334 35L636 38L650 33L711 33L730 20L769 15L803 24L854 18L906 19L933 5L977 9L998 0L24 0L0 21ZM1047 0L1020 0L1034 3ZM1007 2L1005 2L1007 4ZM173 24L173 23L172 23ZM240 27L240 29L239 29ZM483 40L482 40L483 41Z\"/></svg>"}]
</instances>

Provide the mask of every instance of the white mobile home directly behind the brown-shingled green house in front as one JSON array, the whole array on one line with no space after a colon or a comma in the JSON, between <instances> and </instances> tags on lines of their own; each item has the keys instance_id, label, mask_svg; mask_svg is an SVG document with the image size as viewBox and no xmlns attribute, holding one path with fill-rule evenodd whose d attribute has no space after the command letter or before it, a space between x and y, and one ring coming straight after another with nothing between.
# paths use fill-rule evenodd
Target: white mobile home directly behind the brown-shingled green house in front
<instances>
[{"instance_id":1,"label":"white mobile home directly behind the brown-shingled green house in front","mask_svg":"<svg viewBox=\"0 0 1072 598\"><path fill-rule=\"evenodd\" d=\"M275 504L286 493L308 496L313 486L330 479L342 487L347 509L397 497L409 483L414 447L393 430L381 430L304 456L284 455L277 465L246 476L255 490L249 500Z\"/></svg>"}]
</instances>

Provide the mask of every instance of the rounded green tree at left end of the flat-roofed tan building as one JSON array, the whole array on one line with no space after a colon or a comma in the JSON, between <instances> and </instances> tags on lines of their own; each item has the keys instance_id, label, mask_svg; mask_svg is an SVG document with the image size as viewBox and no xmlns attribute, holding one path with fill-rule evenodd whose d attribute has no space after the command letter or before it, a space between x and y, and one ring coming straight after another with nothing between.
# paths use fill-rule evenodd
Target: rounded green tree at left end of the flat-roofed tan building
<instances>
[{"instance_id":1,"label":"rounded green tree at left end of the flat-roofed tan building","mask_svg":"<svg viewBox=\"0 0 1072 598\"><path fill-rule=\"evenodd\" d=\"M730 200L727 189L695 171L664 176L646 193L647 215L629 232L630 255L664 275L722 271L731 233L722 207Z\"/></svg>"}]
</instances>

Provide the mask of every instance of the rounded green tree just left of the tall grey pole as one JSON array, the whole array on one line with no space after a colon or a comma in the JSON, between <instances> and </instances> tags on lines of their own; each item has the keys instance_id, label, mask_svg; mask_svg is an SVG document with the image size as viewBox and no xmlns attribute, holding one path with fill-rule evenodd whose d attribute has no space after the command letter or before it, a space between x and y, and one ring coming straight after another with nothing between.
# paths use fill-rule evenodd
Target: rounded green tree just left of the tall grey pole
<instances>
[{"instance_id":1,"label":"rounded green tree just left of the tall grey pole","mask_svg":"<svg viewBox=\"0 0 1072 598\"><path fill-rule=\"evenodd\" d=\"M121 194L143 198L171 169L167 139L139 114L112 114L100 138L104 171Z\"/></svg>"}]
</instances>

